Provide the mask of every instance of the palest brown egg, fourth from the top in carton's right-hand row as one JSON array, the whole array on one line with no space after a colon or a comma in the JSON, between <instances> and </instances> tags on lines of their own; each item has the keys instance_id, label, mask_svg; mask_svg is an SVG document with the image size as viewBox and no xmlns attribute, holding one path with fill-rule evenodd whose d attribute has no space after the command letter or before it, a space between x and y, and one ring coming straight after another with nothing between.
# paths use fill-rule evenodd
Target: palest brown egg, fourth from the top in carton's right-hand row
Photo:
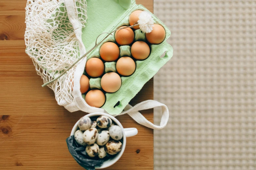
<instances>
[{"instance_id":1,"label":"palest brown egg, fourth from the top in carton's right-hand row","mask_svg":"<svg viewBox=\"0 0 256 170\"><path fill-rule=\"evenodd\" d=\"M100 85L105 92L116 92L120 89L122 80L115 72L106 73L102 76Z\"/></svg>"}]
</instances>

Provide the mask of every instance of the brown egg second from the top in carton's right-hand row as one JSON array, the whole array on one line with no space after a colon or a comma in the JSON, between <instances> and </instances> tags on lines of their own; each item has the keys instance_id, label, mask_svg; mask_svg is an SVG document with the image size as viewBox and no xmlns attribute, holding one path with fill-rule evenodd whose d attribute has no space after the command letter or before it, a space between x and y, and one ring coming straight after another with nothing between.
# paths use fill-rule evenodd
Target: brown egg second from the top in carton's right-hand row
<instances>
[{"instance_id":1,"label":"brown egg second from the top in carton's right-hand row","mask_svg":"<svg viewBox=\"0 0 256 170\"><path fill-rule=\"evenodd\" d=\"M145 60L150 54L150 48L144 41L136 41L131 46L131 55L137 60Z\"/></svg>"}]
</instances>

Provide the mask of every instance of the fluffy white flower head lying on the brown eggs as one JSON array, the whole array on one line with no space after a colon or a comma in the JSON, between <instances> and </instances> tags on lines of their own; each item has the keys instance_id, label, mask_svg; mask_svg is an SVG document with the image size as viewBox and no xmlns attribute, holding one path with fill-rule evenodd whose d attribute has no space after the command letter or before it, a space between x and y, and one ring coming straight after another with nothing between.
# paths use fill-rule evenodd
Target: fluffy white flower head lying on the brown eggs
<instances>
[{"instance_id":1,"label":"fluffy white flower head lying on the brown eggs","mask_svg":"<svg viewBox=\"0 0 256 170\"><path fill-rule=\"evenodd\" d=\"M154 20L149 12L142 11L139 16L138 24L142 32L150 33L153 30Z\"/></svg>"}]
</instances>

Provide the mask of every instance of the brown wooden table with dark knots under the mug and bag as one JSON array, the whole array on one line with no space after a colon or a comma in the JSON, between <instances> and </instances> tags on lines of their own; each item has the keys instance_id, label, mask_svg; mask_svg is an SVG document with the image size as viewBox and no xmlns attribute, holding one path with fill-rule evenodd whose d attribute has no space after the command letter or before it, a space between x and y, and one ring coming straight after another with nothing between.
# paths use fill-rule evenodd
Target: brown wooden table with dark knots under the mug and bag
<instances>
[{"instance_id":1,"label":"brown wooden table with dark knots under the mug and bag","mask_svg":"<svg viewBox=\"0 0 256 170\"><path fill-rule=\"evenodd\" d=\"M137 0L153 12L153 0ZM0 169L83 169L70 155L65 139L85 115L58 106L51 89L42 88L25 53L26 0L0 0ZM153 99L153 79L130 102ZM153 109L142 111L153 122ZM121 159L106 169L153 169L153 130L128 115L116 117L138 135L127 140Z\"/></svg>"}]
</instances>

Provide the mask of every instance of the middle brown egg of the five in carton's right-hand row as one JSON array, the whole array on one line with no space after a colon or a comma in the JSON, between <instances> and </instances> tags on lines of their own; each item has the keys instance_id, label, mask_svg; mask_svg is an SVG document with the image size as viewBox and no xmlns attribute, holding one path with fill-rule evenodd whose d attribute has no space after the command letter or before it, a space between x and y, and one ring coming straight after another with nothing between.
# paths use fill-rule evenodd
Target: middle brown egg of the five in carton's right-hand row
<instances>
[{"instance_id":1,"label":"middle brown egg of the five in carton's right-hand row","mask_svg":"<svg viewBox=\"0 0 256 170\"><path fill-rule=\"evenodd\" d=\"M130 76L136 69L135 62L130 57L121 57L116 62L116 70L122 76Z\"/></svg>"}]
</instances>

